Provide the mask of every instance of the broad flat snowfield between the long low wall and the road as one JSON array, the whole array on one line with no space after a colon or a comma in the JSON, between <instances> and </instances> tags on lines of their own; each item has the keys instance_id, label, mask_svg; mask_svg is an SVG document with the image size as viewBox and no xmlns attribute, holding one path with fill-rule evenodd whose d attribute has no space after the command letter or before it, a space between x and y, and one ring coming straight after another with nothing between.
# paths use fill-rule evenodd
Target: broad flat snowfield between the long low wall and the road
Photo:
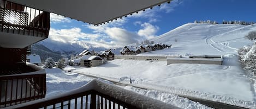
<instances>
[{"instance_id":1,"label":"broad flat snowfield between the long low wall and the road","mask_svg":"<svg viewBox=\"0 0 256 109\"><path fill-rule=\"evenodd\" d=\"M253 84L250 79L243 76L242 69L235 66L236 63L232 61L238 57L232 56L224 56L226 57L224 66L201 64L166 66L166 62L160 61L113 60L100 67L81 68L74 72L125 83L129 83L132 76L133 84L136 86L233 105L256 106L255 91L251 90ZM245 102L249 105L244 105Z\"/></svg>"}]
</instances>

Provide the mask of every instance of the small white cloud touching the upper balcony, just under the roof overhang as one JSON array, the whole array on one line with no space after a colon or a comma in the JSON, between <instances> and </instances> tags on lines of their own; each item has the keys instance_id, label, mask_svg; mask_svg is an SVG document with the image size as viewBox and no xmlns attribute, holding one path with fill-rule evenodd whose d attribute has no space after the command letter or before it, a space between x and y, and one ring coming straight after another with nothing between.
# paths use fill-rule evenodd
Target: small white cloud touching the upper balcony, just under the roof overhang
<instances>
[{"instance_id":1,"label":"small white cloud touching the upper balcony, just under the roof overhang","mask_svg":"<svg viewBox=\"0 0 256 109\"><path fill-rule=\"evenodd\" d=\"M51 23L64 23L64 22L70 23L71 22L69 18L66 18L61 15L56 15L53 13L50 14L50 21Z\"/></svg>"}]
</instances>

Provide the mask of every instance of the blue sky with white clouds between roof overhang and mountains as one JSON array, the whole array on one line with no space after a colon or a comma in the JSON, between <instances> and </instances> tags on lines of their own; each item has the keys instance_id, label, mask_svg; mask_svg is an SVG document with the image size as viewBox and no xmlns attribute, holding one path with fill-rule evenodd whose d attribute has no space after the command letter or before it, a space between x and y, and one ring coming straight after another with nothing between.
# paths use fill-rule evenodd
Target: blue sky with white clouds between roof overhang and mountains
<instances>
[{"instance_id":1,"label":"blue sky with white clouds between roof overhang and mountains","mask_svg":"<svg viewBox=\"0 0 256 109\"><path fill-rule=\"evenodd\" d=\"M48 41L79 43L82 47L122 47L164 34L195 20L256 22L256 1L174 0L100 26L51 14Z\"/></svg>"}]
</instances>

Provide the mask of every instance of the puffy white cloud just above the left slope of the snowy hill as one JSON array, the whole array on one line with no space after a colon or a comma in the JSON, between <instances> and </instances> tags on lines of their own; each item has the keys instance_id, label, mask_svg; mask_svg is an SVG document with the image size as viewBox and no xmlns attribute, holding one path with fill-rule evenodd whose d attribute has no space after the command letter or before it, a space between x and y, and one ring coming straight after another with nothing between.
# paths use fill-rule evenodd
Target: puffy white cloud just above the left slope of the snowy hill
<instances>
[{"instance_id":1,"label":"puffy white cloud just above the left slope of the snowy hill","mask_svg":"<svg viewBox=\"0 0 256 109\"><path fill-rule=\"evenodd\" d=\"M159 30L159 27L150 23L143 23L141 24L141 27L143 27L143 29L138 31L138 35L143 36L144 39L152 39L156 36L156 33Z\"/></svg>"}]
</instances>

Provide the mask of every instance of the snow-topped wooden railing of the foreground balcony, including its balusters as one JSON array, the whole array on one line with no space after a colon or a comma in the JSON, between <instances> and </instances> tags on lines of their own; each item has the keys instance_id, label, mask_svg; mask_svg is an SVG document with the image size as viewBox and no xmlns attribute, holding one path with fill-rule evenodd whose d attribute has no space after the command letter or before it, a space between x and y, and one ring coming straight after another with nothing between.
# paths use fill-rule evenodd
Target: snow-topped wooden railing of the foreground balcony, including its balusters
<instances>
[{"instance_id":1,"label":"snow-topped wooden railing of the foreground balcony, including its balusters","mask_svg":"<svg viewBox=\"0 0 256 109\"><path fill-rule=\"evenodd\" d=\"M92 80L74 91L8 108L165 109L177 107L100 80Z\"/></svg>"}]
</instances>

